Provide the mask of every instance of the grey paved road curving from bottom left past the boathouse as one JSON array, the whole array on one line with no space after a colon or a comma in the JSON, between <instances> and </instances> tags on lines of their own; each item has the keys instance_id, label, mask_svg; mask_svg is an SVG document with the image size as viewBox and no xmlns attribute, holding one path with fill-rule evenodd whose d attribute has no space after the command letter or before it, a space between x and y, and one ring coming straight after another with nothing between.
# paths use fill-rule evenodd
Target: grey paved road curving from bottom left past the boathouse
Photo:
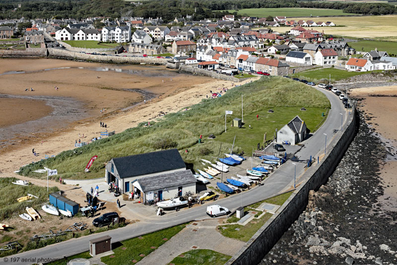
<instances>
[{"instance_id":1,"label":"grey paved road curving from bottom left past the boathouse","mask_svg":"<svg viewBox=\"0 0 397 265\"><path fill-rule=\"evenodd\" d=\"M264 185L255 187L240 194L229 196L222 200L217 200L216 202L205 203L204 205L200 205L191 209L183 209L178 212L167 212L165 215L158 217L158 219L155 219L155 221L142 221L130 224L120 229L103 232L101 234L94 234L82 238L71 239L38 250L32 250L13 255L8 257L8 262L4 262L3 258L0 258L0 265L10 264L11 258L19 258L18 261L14 260L12 262L13 265L40 263L40 261L38 260L39 258L60 259L64 256L70 256L84 251L88 251L89 241L93 238L98 238L103 235L110 235L112 237L112 242L122 241L159 229L205 217L205 208L206 206L211 204L221 204L222 206L227 207L229 210L232 210L241 206L241 204L249 205L258 202L260 200L263 200L265 197L276 195L286 188L293 186L295 166L292 163L296 164L296 176L298 177L302 175L304 173L304 167L307 164L306 161L310 158L310 156L317 158L320 153L324 152L325 135L323 133L327 134L327 142L330 143L331 138L335 133L335 130L340 130L341 115L339 113L343 114L343 123L346 120L346 115L348 115L348 112L346 112L346 110L343 108L341 100L339 100L338 96L333 94L331 91L325 89L318 88L318 90L325 93L331 102L331 110L328 115L327 121L309 139L304 141L305 146L300 149L298 153L296 153L295 156L302 162L287 161L278 170L276 170L271 175L271 177L268 177L264 181ZM36 258L36 260L22 260L28 258Z\"/></svg>"}]
</instances>

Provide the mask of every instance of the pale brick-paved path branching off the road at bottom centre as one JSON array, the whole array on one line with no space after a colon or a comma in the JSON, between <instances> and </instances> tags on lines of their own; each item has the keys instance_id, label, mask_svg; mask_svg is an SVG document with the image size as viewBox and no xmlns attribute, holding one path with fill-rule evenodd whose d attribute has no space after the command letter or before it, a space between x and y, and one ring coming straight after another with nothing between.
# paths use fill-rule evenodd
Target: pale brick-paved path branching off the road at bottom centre
<instances>
[{"instance_id":1,"label":"pale brick-paved path branching off the road at bottom centre","mask_svg":"<svg viewBox=\"0 0 397 265\"><path fill-rule=\"evenodd\" d=\"M197 224L197 225L194 225ZM245 242L221 235L216 226L219 220L205 220L186 226L157 250L143 258L138 265L169 264L174 258L193 249L213 250L233 256ZM194 248L195 247L195 248Z\"/></svg>"}]
</instances>

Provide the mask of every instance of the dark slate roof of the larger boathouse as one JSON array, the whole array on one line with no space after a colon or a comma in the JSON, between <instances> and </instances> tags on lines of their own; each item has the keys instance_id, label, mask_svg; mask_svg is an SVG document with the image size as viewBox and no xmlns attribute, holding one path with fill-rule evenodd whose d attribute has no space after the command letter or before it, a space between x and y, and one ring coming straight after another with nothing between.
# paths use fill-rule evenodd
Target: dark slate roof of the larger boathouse
<instances>
[{"instance_id":1,"label":"dark slate roof of the larger boathouse","mask_svg":"<svg viewBox=\"0 0 397 265\"><path fill-rule=\"evenodd\" d=\"M178 149L114 158L113 163L121 178L186 168Z\"/></svg>"}]
</instances>

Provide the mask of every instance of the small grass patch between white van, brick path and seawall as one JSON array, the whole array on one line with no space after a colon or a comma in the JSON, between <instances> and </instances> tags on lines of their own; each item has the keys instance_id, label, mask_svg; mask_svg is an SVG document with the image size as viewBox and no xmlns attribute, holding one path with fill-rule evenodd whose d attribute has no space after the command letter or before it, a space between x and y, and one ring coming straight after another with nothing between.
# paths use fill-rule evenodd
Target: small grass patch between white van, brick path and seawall
<instances>
[{"instance_id":1,"label":"small grass patch between white van, brick path and seawall","mask_svg":"<svg viewBox=\"0 0 397 265\"><path fill-rule=\"evenodd\" d=\"M235 238L244 242L247 242L252 236L265 224L267 220L272 216L271 213L265 213L259 219L253 219L246 225L219 225L219 231L225 237ZM223 229L226 227L226 229ZM236 230L238 228L239 230Z\"/></svg>"}]
</instances>

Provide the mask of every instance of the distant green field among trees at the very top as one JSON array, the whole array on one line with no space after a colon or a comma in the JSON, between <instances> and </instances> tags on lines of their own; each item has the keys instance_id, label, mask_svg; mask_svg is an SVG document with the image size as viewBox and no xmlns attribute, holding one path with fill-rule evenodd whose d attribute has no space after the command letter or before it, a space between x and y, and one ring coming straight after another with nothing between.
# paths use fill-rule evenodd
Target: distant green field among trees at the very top
<instances>
[{"instance_id":1,"label":"distant green field among trees at the very top","mask_svg":"<svg viewBox=\"0 0 397 265\"><path fill-rule=\"evenodd\" d=\"M236 10L227 10L231 13ZM354 15L353 13L344 13L339 9L319 9L319 8L243 8L237 11L241 15L266 17L271 16L323 16L323 15Z\"/></svg>"}]
</instances>

